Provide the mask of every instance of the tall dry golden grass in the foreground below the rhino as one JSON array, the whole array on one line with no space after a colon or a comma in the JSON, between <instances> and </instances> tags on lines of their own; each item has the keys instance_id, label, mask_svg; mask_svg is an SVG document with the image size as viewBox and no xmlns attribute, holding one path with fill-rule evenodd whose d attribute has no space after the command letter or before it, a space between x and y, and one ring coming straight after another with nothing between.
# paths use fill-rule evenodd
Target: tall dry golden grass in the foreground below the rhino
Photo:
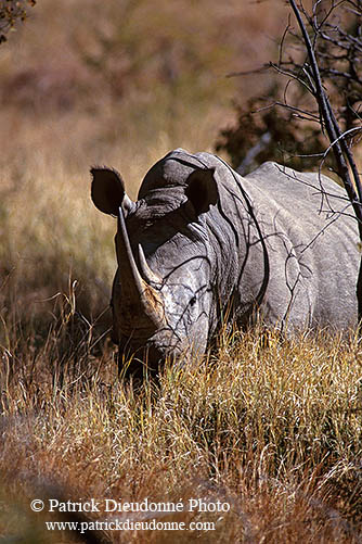
<instances>
[{"instance_id":1,"label":"tall dry golden grass in the foreground below the rhino","mask_svg":"<svg viewBox=\"0 0 362 544\"><path fill-rule=\"evenodd\" d=\"M157 382L145 379L134 389L118 380L109 346L92 354L99 339L91 328L60 356L74 316L65 300L41 349L23 350L16 359L16 346L3 352L7 504L24 516L39 494L196 497L231 506L222 516L168 515L215 521L211 535L197 533L202 542L359 542L361 349L354 337L223 332L219 347L194 368L166 366ZM18 516L7 534L22 534ZM27 517L37 531L52 519ZM131 537L190 541L182 532L108 534L109 542Z\"/></svg>"}]
</instances>

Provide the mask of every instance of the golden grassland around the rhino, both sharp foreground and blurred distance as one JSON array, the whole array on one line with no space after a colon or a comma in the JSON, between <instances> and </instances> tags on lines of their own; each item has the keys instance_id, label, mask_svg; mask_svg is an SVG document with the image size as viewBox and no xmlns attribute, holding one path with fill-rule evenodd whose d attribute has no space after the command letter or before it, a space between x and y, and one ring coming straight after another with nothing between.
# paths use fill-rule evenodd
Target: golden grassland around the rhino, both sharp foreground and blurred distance
<instances>
[{"instance_id":1,"label":"golden grassland around the rhino, both sharp foreground and blurred distance","mask_svg":"<svg viewBox=\"0 0 362 544\"><path fill-rule=\"evenodd\" d=\"M117 15L129 22L120 37L111 8L94 17L98 2L67 0L57 11L50 0L41 4L0 51L0 536L75 542L75 533L44 530L44 521L70 517L34 514L34 498L196 497L228 502L231 509L155 517L212 521L215 531L102 537L360 542L362 349L355 336L321 331L283 340L273 331L225 329L193 368L166 366L157 381L132 388L118 379L107 334L115 224L90 202L90 165L115 166L135 198L147 168L170 149L212 150L232 118L230 97L255 92L255 79L231 83L223 74L253 67L253 55L268 60L262 54L283 28L284 2L274 2L274 11L248 4L242 14L240 2L230 2L220 34L211 25L221 16L216 2L210 21L206 2L180 2L181 12L191 10L182 25L174 22L176 3L155 13L150 2L124 2L133 11ZM94 22L111 37L103 71L85 61L85 53L103 59ZM197 33L184 49L193 25ZM228 29L227 51L218 51ZM170 33L180 37L171 48L178 75L163 79L167 59L157 51ZM148 65L139 36L150 37L159 65ZM115 87L107 77L114 81L119 40L129 53L124 84ZM192 72L190 55L198 59ZM59 72L63 79L54 83Z\"/></svg>"}]
</instances>

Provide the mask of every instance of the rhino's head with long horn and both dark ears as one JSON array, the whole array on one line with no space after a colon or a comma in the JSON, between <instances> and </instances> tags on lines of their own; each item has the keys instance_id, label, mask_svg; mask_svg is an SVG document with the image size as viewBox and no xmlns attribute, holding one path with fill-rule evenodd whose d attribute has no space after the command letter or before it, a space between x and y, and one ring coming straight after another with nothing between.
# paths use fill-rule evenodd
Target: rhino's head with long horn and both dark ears
<instances>
[{"instance_id":1,"label":"rhino's head with long horn and both dark ears","mask_svg":"<svg viewBox=\"0 0 362 544\"><path fill-rule=\"evenodd\" d=\"M143 184L132 202L115 169L91 169L93 203L117 218L111 305L120 369L133 354L130 371L139 372L140 360L157 369L167 357L182 364L206 350L215 293L202 217L218 201L214 172Z\"/></svg>"}]
</instances>

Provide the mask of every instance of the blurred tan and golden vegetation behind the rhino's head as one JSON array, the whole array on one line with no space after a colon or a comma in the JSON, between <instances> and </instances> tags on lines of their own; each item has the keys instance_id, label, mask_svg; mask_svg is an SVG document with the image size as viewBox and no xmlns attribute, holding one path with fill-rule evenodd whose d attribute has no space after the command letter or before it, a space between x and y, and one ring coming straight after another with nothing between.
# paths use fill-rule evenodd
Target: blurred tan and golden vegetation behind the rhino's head
<instances>
[{"instance_id":1,"label":"blurred tan and golden vegetation behind the rhino's head","mask_svg":"<svg viewBox=\"0 0 362 544\"><path fill-rule=\"evenodd\" d=\"M135 198L170 149L214 151L232 100L269 86L269 75L227 75L276 54L287 12L273 0L43 0L27 11L0 50L0 302L12 305L16 284L17 305L43 316L39 301L72 276L94 318L115 263L90 166L119 169Z\"/></svg>"}]
</instances>

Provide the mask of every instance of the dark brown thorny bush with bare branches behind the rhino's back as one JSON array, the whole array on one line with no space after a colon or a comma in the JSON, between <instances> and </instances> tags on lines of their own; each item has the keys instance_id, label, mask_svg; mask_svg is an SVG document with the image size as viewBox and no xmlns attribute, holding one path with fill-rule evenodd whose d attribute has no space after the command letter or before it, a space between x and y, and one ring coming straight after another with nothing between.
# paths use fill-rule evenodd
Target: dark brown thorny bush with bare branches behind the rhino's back
<instances>
[{"instance_id":1,"label":"dark brown thorny bush with bare branches behind the rhino's back","mask_svg":"<svg viewBox=\"0 0 362 544\"><path fill-rule=\"evenodd\" d=\"M220 132L216 149L225 150L233 166L244 174L271 159L296 169L315 168L332 136L332 141L339 143L347 170L351 169L353 188L352 178L358 172L351 146L362 140L362 0L314 0L310 11L303 8L301 0L294 3L298 5L318 61L321 88L333 104L333 111L331 107L331 112L326 110L325 113L334 137L327 131L318 101L303 36L299 27L292 25L289 3L290 15L276 63L229 75L246 77L268 69L275 73L274 77L269 76L269 89L263 97L251 97L246 106L235 103L237 124ZM335 152L338 149L331 148L324 156L324 166L340 174ZM360 197L355 202L359 200Z\"/></svg>"}]
</instances>

